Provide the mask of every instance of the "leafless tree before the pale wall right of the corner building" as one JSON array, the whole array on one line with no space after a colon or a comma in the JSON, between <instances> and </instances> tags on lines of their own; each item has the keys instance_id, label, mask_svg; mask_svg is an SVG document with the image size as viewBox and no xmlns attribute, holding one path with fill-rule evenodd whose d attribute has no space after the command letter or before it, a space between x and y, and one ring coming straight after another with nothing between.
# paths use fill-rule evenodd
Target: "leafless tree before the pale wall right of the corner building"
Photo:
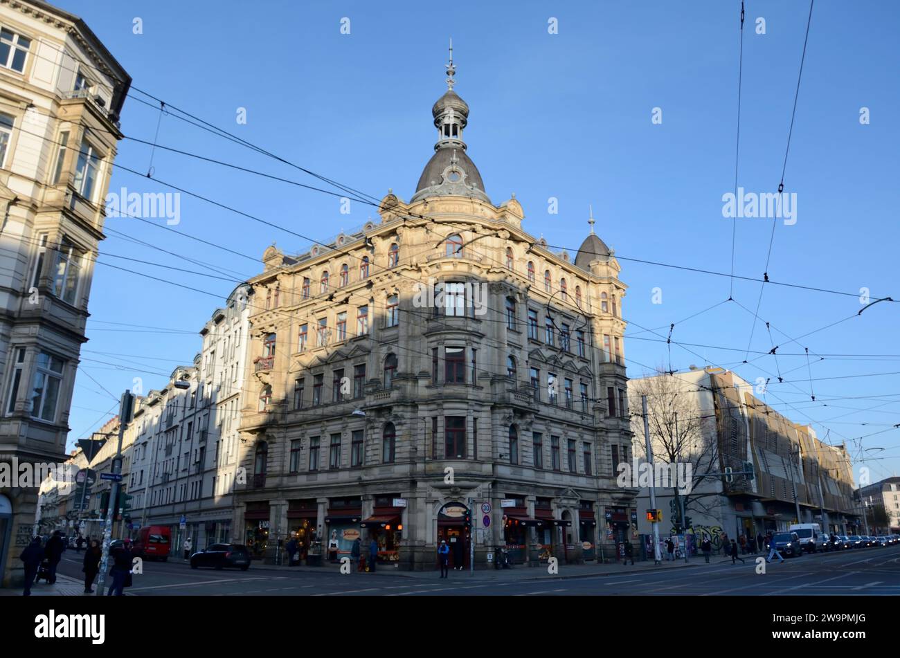
<instances>
[{"instance_id":1,"label":"leafless tree before the pale wall right of the corner building","mask_svg":"<svg viewBox=\"0 0 900 658\"><path fill-rule=\"evenodd\" d=\"M685 511L683 516L688 520L692 510L709 514L716 506L718 497L715 487L703 486L717 480L717 476L709 475L718 470L719 463L716 416L711 410L704 413L697 391L696 383L671 375L664 369L628 383L630 408L635 410L632 415L635 456L647 457L644 416L640 411L641 398L647 396L647 422L654 463L666 465L671 474L678 467L690 465L691 476L686 492L680 492L677 481L673 482L671 478L671 486L667 487L671 488L678 514L678 522L672 525L681 531L690 525L685 522L681 510Z\"/></svg>"}]
</instances>

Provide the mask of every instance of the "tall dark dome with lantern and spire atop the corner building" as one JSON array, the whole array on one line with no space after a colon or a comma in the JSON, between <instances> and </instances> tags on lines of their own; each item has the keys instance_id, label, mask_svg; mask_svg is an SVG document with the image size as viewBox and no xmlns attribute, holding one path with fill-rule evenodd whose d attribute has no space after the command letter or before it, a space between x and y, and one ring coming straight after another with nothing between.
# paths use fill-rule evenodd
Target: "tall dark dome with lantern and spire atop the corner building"
<instances>
[{"instance_id":1,"label":"tall dark dome with lantern and spire atop the corner building","mask_svg":"<svg viewBox=\"0 0 900 658\"><path fill-rule=\"evenodd\" d=\"M437 128L435 155L431 156L419 176L419 184L410 203L435 196L473 197L491 203L484 192L482 174L465 152L463 130L469 121L469 105L453 90L456 67L452 40L446 69L447 91L431 108Z\"/></svg>"}]
</instances>

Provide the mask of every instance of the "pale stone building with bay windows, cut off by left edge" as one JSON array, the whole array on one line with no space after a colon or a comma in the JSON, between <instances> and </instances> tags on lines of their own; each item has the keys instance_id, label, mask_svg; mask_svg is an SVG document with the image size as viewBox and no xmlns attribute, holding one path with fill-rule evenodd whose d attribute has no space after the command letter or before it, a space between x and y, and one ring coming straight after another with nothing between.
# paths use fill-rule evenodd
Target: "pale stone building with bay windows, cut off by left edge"
<instances>
[{"instance_id":1,"label":"pale stone building with bay windows, cut off by left edge","mask_svg":"<svg viewBox=\"0 0 900 658\"><path fill-rule=\"evenodd\" d=\"M0 460L66 460L103 199L130 77L85 22L0 2ZM37 487L0 489L0 574L23 577Z\"/></svg>"}]
</instances>

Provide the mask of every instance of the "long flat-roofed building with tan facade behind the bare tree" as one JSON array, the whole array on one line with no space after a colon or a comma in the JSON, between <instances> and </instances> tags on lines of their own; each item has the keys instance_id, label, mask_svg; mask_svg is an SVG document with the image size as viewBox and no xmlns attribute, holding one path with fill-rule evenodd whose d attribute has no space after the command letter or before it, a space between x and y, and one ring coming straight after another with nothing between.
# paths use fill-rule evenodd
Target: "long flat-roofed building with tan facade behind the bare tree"
<instances>
[{"instance_id":1,"label":"long flat-roofed building with tan facade behind the bare tree","mask_svg":"<svg viewBox=\"0 0 900 658\"><path fill-rule=\"evenodd\" d=\"M817 439L812 427L766 405L733 372L692 369L631 379L635 456L640 461L646 456L642 394L647 396L654 461L691 466L685 516L688 533L697 542L709 537L718 547L722 533L756 538L797 522L849 534L857 522L846 447ZM743 475L751 469L752 477ZM734 475L726 476L729 472ZM682 532L680 497L671 486L657 486L663 538ZM638 500L640 532L650 535L646 486Z\"/></svg>"}]
</instances>

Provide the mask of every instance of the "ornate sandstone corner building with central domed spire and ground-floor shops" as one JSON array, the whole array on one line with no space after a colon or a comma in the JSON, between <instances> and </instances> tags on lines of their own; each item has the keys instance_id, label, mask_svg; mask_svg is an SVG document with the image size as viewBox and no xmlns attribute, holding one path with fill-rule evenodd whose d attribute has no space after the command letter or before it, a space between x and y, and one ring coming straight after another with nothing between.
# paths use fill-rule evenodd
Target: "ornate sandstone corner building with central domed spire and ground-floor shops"
<instances>
[{"instance_id":1,"label":"ornate sandstone corner building with central domed spire and ground-floor shops","mask_svg":"<svg viewBox=\"0 0 900 658\"><path fill-rule=\"evenodd\" d=\"M410 201L389 193L380 223L308 253L269 247L249 281L234 537L257 556L361 537L408 569L442 540L464 568L497 547L580 562L632 530L619 263L592 218L572 260L515 197L493 204L447 72Z\"/></svg>"}]
</instances>

